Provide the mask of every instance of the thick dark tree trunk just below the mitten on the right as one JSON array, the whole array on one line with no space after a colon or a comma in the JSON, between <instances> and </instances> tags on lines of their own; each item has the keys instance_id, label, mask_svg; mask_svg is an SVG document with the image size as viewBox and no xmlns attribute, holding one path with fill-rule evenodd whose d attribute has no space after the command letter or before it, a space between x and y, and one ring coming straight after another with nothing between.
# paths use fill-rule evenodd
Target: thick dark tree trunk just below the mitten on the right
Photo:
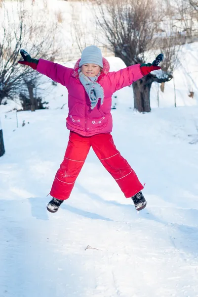
<instances>
[{"instance_id":1,"label":"thick dark tree trunk just below the mitten on the right","mask_svg":"<svg viewBox=\"0 0 198 297\"><path fill-rule=\"evenodd\" d=\"M152 82L143 77L132 84L134 94L134 109L139 112L150 112L150 90Z\"/></svg>"}]
</instances>

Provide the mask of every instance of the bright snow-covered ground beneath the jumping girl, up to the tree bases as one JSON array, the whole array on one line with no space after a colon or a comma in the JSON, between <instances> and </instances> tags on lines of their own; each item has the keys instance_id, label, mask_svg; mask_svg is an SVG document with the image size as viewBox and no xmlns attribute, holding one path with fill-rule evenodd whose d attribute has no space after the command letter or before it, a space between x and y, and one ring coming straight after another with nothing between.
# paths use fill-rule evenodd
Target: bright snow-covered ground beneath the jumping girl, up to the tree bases
<instances>
[{"instance_id":1,"label":"bright snow-covered ground beneath the jumping girl, up to the tree bases","mask_svg":"<svg viewBox=\"0 0 198 297\"><path fill-rule=\"evenodd\" d=\"M18 129L4 115L1 297L198 296L198 107L113 110L115 143L146 183L139 213L93 151L71 198L47 212L67 110L18 112Z\"/></svg>"}]
</instances>

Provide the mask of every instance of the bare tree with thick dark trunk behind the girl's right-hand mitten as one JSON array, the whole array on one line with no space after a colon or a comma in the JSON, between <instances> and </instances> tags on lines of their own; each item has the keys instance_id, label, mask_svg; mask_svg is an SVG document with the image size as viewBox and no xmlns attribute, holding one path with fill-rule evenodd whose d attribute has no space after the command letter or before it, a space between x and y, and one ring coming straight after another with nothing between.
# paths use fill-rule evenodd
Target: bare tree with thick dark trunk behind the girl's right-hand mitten
<instances>
[{"instance_id":1,"label":"bare tree with thick dark trunk behind the girl's right-hand mitten","mask_svg":"<svg viewBox=\"0 0 198 297\"><path fill-rule=\"evenodd\" d=\"M175 52L178 50L172 48L174 38L170 38L170 32L166 33L169 29L164 28L163 34L158 30L160 22L163 22L161 3L157 0L98 0L97 4L100 11L96 15L97 22L106 36L109 48L126 66L144 63L148 52L154 53L155 49L163 48L162 52L167 54L162 75L148 74L132 84L134 108L140 112L149 112L151 85L153 82L162 83L172 79Z\"/></svg>"}]
</instances>

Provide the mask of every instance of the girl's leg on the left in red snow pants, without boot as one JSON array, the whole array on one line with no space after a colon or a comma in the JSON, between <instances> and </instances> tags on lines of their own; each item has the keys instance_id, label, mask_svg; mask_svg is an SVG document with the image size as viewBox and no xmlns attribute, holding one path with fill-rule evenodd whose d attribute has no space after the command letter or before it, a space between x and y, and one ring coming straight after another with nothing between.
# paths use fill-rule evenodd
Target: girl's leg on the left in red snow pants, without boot
<instances>
[{"instance_id":1,"label":"girl's leg on the left in red snow pants, without boot","mask_svg":"<svg viewBox=\"0 0 198 297\"><path fill-rule=\"evenodd\" d=\"M90 139L70 132L64 160L58 169L50 195L65 200L70 197L75 181L90 149Z\"/></svg>"}]
</instances>

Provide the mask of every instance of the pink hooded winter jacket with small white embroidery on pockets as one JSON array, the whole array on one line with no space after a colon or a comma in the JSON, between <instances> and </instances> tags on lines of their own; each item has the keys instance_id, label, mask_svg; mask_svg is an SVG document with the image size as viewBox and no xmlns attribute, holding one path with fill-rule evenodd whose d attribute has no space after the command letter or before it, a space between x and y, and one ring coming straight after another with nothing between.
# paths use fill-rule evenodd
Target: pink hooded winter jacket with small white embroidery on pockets
<instances>
[{"instance_id":1,"label":"pink hooded winter jacket with small white embroidery on pockets","mask_svg":"<svg viewBox=\"0 0 198 297\"><path fill-rule=\"evenodd\" d=\"M132 65L116 72L109 72L109 62L103 58L103 71L97 82L104 90L104 101L90 109L89 97L79 81L79 61L74 69L40 59L37 71L68 89L67 128L82 136L112 132L112 95L119 89L130 86L143 77L140 64Z\"/></svg>"}]
</instances>

